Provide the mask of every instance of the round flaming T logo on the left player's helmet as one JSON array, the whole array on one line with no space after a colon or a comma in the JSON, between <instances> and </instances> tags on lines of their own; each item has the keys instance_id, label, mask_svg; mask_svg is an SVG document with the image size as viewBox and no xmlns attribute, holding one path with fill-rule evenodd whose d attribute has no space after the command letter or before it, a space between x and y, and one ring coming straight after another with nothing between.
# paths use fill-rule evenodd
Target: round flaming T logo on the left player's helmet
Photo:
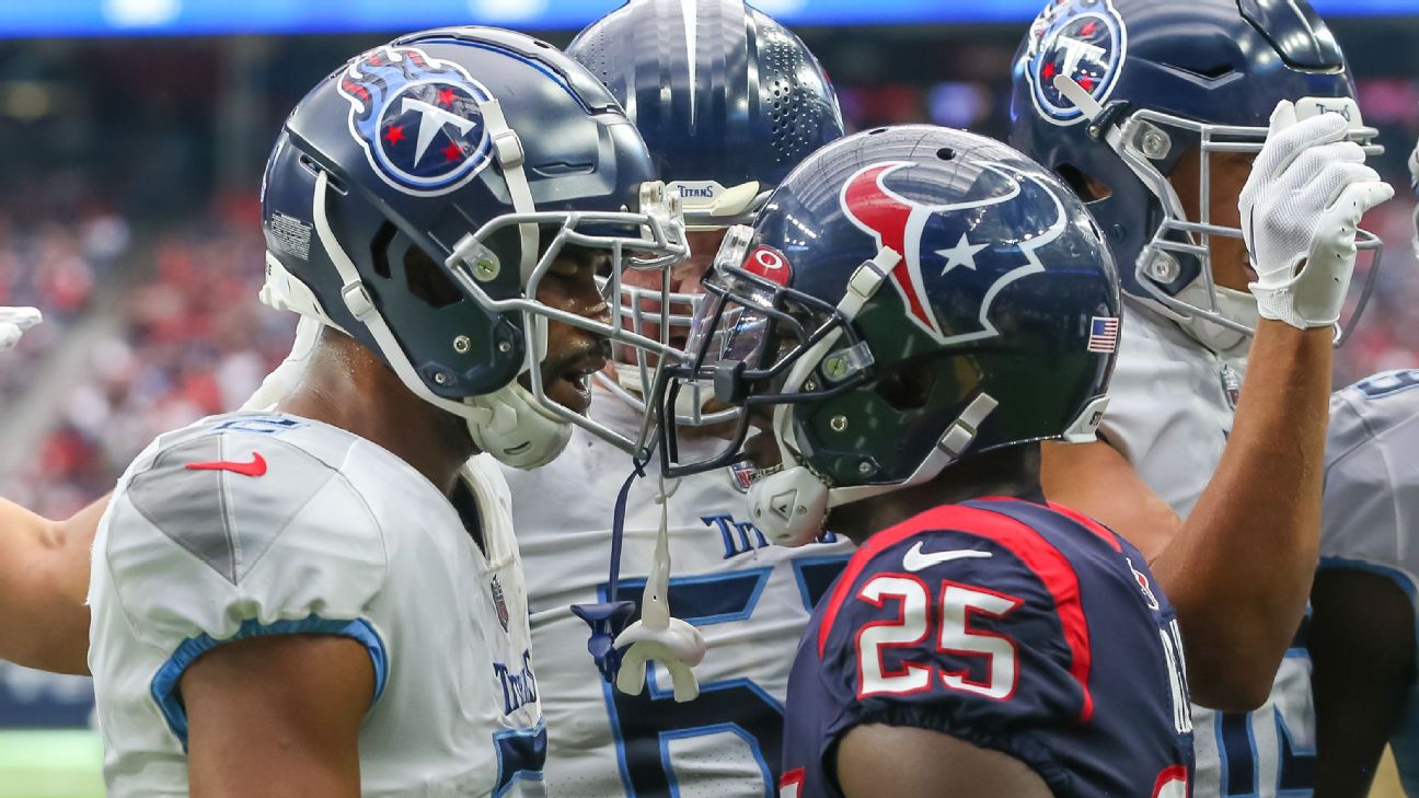
<instances>
[{"instance_id":1,"label":"round flaming T logo on the left player's helmet","mask_svg":"<svg viewBox=\"0 0 1419 798\"><path fill-rule=\"evenodd\" d=\"M453 192L491 160L480 109L491 95L458 64L417 47L379 47L349 62L339 92L375 173L402 192Z\"/></svg>"}]
</instances>

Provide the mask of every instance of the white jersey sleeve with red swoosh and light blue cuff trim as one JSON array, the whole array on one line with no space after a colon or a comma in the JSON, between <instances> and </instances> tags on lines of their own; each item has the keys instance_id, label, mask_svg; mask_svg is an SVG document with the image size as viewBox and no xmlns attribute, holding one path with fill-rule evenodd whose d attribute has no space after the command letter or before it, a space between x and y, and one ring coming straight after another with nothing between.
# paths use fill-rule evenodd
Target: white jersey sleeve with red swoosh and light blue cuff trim
<instances>
[{"instance_id":1,"label":"white jersey sleeve with red swoosh and light blue cuff trim","mask_svg":"<svg viewBox=\"0 0 1419 798\"><path fill-rule=\"evenodd\" d=\"M220 425L163 439L119 483L95 542L89 667L99 684L150 680L152 720L182 743L179 680L219 642L345 635L366 646L382 684L387 630L366 608L386 572L365 501L311 453ZM133 642L163 653L156 673L125 657L108 633L115 616Z\"/></svg>"}]
</instances>

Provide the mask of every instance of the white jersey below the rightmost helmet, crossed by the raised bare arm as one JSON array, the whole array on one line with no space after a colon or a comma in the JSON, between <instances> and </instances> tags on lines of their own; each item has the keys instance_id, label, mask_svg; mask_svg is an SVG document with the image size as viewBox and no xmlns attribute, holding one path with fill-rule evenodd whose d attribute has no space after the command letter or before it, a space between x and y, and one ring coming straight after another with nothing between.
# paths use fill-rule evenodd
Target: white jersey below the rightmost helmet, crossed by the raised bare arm
<instances>
[{"instance_id":1,"label":"white jersey below the rightmost helmet, crossed by the raised bare arm","mask_svg":"<svg viewBox=\"0 0 1419 798\"><path fill-rule=\"evenodd\" d=\"M1100 436L1186 517L1222 460L1244 358L1222 358L1181 327L1128 302ZM1253 713L1193 706L1195 798L1310 795L1315 755L1311 662L1293 643L1271 697Z\"/></svg>"}]
</instances>

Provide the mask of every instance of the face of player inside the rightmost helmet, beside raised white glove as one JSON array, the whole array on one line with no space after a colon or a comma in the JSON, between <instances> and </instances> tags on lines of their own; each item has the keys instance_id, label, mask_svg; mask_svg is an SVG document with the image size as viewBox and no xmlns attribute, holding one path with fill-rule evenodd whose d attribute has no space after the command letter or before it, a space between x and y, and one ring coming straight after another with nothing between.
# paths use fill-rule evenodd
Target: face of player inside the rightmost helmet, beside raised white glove
<instances>
[{"instance_id":1,"label":"face of player inside the rightmost helmet, beside raised white glove","mask_svg":"<svg viewBox=\"0 0 1419 798\"><path fill-rule=\"evenodd\" d=\"M1182 206L1188 212L1188 219L1202 219L1200 213L1200 149L1192 149L1182 156L1169 180ZM1254 155L1240 152L1219 152L1212 155L1210 163L1210 203L1209 220L1212 224L1223 227L1242 227L1242 212L1237 210L1237 197L1242 187L1252 175ZM1212 280L1218 285L1235 291L1246 291L1247 284L1256 278L1247 266L1246 241L1230 236L1212 236Z\"/></svg>"}]
</instances>

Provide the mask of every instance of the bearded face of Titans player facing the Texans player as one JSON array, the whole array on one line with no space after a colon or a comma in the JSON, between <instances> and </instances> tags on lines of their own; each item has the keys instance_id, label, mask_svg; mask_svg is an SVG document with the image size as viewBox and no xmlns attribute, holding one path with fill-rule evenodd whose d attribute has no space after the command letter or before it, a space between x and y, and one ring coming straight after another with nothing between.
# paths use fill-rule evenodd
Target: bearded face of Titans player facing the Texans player
<instances>
[{"instance_id":1,"label":"bearded face of Titans player facing the Texans player","mask_svg":"<svg viewBox=\"0 0 1419 798\"><path fill-rule=\"evenodd\" d=\"M542 278L536 300L561 311L610 324L610 307L596 285L597 270L610 270L610 253L565 247ZM556 321L548 324L546 337L546 358L542 359L546 395L585 415L592 405L592 375L606 368L610 342L595 332ZM522 376L522 385L529 386L526 375Z\"/></svg>"}]
</instances>

